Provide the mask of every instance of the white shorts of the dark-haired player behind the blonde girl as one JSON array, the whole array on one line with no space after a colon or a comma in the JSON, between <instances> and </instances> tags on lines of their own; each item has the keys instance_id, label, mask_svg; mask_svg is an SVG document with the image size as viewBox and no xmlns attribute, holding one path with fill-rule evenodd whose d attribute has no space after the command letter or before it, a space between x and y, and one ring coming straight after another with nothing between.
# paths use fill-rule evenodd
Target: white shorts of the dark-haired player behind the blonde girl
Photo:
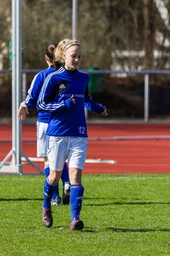
<instances>
[{"instance_id":1,"label":"white shorts of the dark-haired player behind the blonde girl","mask_svg":"<svg viewBox=\"0 0 170 256\"><path fill-rule=\"evenodd\" d=\"M45 157L47 156L47 149L45 148L46 142L46 131L48 124L43 122L37 122L37 156Z\"/></svg>"}]
</instances>

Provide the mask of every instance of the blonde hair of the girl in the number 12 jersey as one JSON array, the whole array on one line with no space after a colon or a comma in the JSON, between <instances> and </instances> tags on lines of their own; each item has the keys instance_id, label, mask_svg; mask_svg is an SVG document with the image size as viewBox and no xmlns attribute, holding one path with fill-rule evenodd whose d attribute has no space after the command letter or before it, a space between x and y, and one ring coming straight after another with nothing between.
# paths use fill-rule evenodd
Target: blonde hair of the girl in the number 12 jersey
<instances>
[{"instance_id":1,"label":"blonde hair of the girl in the number 12 jersey","mask_svg":"<svg viewBox=\"0 0 170 256\"><path fill-rule=\"evenodd\" d=\"M65 60L62 57L63 53L72 46L81 46L79 41L72 39L63 39L58 43L57 47L54 50L54 60L60 63L60 65L65 64Z\"/></svg>"}]
</instances>

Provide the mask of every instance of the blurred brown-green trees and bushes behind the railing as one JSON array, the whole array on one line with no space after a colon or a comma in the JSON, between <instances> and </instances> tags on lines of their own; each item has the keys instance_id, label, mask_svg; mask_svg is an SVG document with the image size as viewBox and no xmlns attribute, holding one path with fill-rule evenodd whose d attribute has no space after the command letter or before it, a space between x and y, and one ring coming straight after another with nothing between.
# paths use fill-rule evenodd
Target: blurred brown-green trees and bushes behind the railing
<instances>
[{"instance_id":1,"label":"blurred brown-green trees and bushes behind the railing","mask_svg":"<svg viewBox=\"0 0 170 256\"><path fill-rule=\"evenodd\" d=\"M158 2L160 2L158 4ZM163 3L162 3L163 2ZM45 68L47 43L72 37L72 0L22 0L23 69ZM77 1L81 68L163 69L169 66L169 0ZM0 2L0 60L8 68L11 1ZM141 55L145 51L145 55ZM155 51L155 52L154 52ZM156 54L157 53L157 54ZM156 56L154 56L156 55Z\"/></svg>"}]
</instances>

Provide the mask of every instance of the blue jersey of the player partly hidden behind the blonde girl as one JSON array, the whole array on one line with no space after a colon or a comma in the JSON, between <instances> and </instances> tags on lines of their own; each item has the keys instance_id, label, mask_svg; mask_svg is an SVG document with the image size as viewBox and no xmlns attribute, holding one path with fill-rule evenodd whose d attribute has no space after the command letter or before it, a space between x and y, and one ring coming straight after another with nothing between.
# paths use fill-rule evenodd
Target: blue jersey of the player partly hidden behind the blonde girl
<instances>
[{"instance_id":1,"label":"blue jersey of the player partly hidden behind the blonde girl","mask_svg":"<svg viewBox=\"0 0 170 256\"><path fill-rule=\"evenodd\" d=\"M40 110L40 107L38 107L38 97L40 94L40 90L42 89L43 82L45 81L45 78L47 78L47 75L50 75L50 73L55 72L55 68L51 66L50 68L47 68L46 70L42 70L40 73L35 75L33 78L33 81L31 82L30 89L28 90L28 95L26 97L26 106L27 107L37 107L38 110L38 122L45 122L48 123L48 119L50 117L50 112L45 112L44 110Z\"/></svg>"}]
</instances>

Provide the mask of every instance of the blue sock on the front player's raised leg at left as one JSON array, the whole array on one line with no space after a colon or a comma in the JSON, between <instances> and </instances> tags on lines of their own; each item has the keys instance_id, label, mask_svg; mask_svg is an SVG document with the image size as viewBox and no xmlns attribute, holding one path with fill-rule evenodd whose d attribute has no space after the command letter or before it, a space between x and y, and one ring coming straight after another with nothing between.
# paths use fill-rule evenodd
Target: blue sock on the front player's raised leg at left
<instances>
[{"instance_id":1,"label":"blue sock on the front player's raised leg at left","mask_svg":"<svg viewBox=\"0 0 170 256\"><path fill-rule=\"evenodd\" d=\"M44 208L51 208L51 199L52 199L53 193L55 192L55 189L56 189L56 184L52 185L52 183L50 183L48 178L46 178L45 184L44 184L44 203L43 203Z\"/></svg>"}]
</instances>

